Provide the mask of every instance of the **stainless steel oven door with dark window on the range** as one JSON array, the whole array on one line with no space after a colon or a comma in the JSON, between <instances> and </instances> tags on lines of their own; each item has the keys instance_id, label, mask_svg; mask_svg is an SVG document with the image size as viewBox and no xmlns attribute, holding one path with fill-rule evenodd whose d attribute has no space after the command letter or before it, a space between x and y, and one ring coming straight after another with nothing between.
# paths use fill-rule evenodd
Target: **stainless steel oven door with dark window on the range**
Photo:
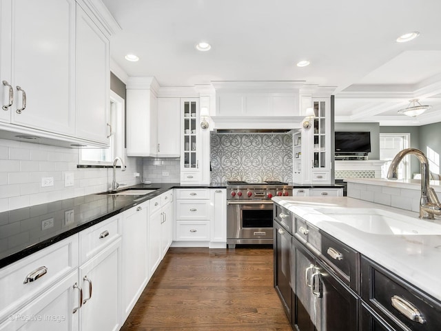
<instances>
[{"instance_id":1,"label":"stainless steel oven door with dark window on the range","mask_svg":"<svg viewBox=\"0 0 441 331\"><path fill-rule=\"evenodd\" d=\"M272 241L272 201L227 201L227 243Z\"/></svg>"}]
</instances>

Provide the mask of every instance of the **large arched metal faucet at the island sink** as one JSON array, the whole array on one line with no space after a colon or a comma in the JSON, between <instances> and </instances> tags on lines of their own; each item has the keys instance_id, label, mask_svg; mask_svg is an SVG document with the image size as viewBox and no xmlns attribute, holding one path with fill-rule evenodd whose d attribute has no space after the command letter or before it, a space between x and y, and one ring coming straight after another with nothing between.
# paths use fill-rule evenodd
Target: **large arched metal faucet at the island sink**
<instances>
[{"instance_id":1,"label":"large arched metal faucet at the island sink","mask_svg":"<svg viewBox=\"0 0 441 331\"><path fill-rule=\"evenodd\" d=\"M420 219L434 219L434 215L441 215L441 203L433 188L429 187L429 161L426 155L416 148L407 148L400 150L393 158L389 170L387 171L387 179L398 179L397 169L402 158L407 154L415 155L421 165L421 199L420 199Z\"/></svg>"}]
</instances>

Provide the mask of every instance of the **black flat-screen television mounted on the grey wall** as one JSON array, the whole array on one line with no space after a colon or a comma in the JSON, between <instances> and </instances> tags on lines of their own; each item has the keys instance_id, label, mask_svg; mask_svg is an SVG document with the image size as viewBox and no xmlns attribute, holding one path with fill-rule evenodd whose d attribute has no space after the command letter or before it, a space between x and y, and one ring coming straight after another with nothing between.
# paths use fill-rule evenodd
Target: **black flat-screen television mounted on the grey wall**
<instances>
[{"instance_id":1,"label":"black flat-screen television mounted on the grey wall","mask_svg":"<svg viewBox=\"0 0 441 331\"><path fill-rule=\"evenodd\" d=\"M371 132L336 132L336 154L371 152Z\"/></svg>"}]
</instances>

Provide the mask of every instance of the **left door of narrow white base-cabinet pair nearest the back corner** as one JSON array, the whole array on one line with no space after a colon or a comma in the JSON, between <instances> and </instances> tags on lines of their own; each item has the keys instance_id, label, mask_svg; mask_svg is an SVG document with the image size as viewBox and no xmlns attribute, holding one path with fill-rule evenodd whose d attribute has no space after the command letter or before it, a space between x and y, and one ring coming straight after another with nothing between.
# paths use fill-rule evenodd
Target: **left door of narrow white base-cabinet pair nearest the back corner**
<instances>
[{"instance_id":1,"label":"left door of narrow white base-cabinet pair nearest the back corner","mask_svg":"<svg viewBox=\"0 0 441 331\"><path fill-rule=\"evenodd\" d=\"M162 210L158 210L149 217L149 239L148 239L148 252L149 252L149 270L150 277L154 274L156 268L162 259L161 249L161 225L163 223L164 215Z\"/></svg>"}]
</instances>

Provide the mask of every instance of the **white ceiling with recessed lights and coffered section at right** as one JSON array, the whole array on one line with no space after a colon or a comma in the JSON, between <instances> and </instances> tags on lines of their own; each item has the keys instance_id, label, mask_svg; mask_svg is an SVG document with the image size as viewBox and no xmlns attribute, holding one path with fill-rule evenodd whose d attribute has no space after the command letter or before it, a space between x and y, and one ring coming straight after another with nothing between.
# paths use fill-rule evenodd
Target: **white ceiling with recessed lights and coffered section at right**
<instances>
[{"instance_id":1,"label":"white ceiling with recessed lights and coffered section at right","mask_svg":"<svg viewBox=\"0 0 441 331\"><path fill-rule=\"evenodd\" d=\"M111 55L161 86L306 81L335 86L336 121L441 121L440 0L103 0L122 30ZM420 37L397 43L401 34ZM194 46L207 41L212 50ZM128 62L125 54L140 57ZM296 63L309 59L311 65ZM397 114L409 99L433 108Z\"/></svg>"}]
</instances>

